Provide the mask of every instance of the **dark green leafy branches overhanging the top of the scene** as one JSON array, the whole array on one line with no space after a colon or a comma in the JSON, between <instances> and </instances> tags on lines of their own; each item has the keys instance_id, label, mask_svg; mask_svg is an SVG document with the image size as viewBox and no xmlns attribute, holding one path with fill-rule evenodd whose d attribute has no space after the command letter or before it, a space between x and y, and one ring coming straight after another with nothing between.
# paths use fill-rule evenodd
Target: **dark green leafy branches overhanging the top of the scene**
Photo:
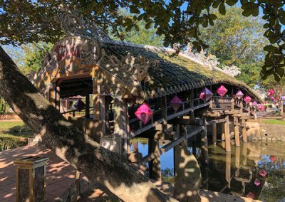
<instances>
[{"instance_id":1,"label":"dark green leafy branches overhanging the top of the scene","mask_svg":"<svg viewBox=\"0 0 285 202\"><path fill-rule=\"evenodd\" d=\"M135 28L139 31L139 21L145 21L145 28L157 28L157 35L165 36L164 46L184 48L192 41L193 48L200 51L206 48L200 38L201 26L213 26L217 19L214 9L219 14L226 14L228 6L237 4L237 0L197 0L197 1L68 1L69 8L77 10L98 27L110 31L121 38L120 28L126 32ZM58 14L62 13L62 1L1 1L0 3L0 38L2 44L22 44L38 41L55 42L63 36ZM262 15L264 36L269 39L264 67L261 74L274 75L280 80L284 75L285 38L282 26L285 25L283 1L239 1L243 16ZM228 6L226 6L228 5ZM127 9L133 18L120 14L120 9Z\"/></svg>"}]
</instances>

